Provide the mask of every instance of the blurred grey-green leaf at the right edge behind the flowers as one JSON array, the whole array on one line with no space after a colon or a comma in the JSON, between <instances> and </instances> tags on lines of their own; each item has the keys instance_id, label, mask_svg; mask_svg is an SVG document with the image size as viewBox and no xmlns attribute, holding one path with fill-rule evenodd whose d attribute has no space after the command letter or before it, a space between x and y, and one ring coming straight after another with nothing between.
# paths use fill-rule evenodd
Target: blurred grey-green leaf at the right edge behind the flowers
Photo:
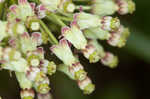
<instances>
[{"instance_id":1,"label":"blurred grey-green leaf at the right edge behind the flowers","mask_svg":"<svg viewBox=\"0 0 150 99\"><path fill-rule=\"evenodd\" d=\"M140 59L150 63L150 38L131 27L131 36L125 49Z\"/></svg>"}]
</instances>

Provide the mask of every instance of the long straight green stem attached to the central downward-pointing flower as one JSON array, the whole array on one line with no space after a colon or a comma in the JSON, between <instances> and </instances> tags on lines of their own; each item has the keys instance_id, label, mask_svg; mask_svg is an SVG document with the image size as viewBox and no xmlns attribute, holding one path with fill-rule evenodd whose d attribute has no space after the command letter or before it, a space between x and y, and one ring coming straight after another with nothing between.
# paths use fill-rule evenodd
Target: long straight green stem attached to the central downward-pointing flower
<instances>
[{"instance_id":1,"label":"long straight green stem attached to the central downward-pointing flower","mask_svg":"<svg viewBox=\"0 0 150 99\"><path fill-rule=\"evenodd\" d=\"M51 31L47 28L45 23L42 20L39 20L40 25L43 27L46 33L48 33L50 37L50 41L52 44L58 44L58 40L55 38L55 36L51 33Z\"/></svg>"}]
</instances>

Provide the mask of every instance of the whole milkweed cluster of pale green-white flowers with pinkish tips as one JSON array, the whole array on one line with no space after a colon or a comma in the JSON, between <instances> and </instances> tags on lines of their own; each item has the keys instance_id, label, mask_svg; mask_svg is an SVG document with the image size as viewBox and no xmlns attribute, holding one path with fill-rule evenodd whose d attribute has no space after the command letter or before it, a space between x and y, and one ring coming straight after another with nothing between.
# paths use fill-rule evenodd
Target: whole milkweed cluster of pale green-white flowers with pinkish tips
<instances>
[{"instance_id":1,"label":"whole milkweed cluster of pale green-white flowers with pinkish tips","mask_svg":"<svg viewBox=\"0 0 150 99\"><path fill-rule=\"evenodd\" d=\"M51 99L48 76L56 71L91 94L95 85L77 54L115 68L118 57L100 42L125 46L129 29L114 16L134 11L132 0L0 0L1 69L15 73L21 99Z\"/></svg>"}]
</instances>

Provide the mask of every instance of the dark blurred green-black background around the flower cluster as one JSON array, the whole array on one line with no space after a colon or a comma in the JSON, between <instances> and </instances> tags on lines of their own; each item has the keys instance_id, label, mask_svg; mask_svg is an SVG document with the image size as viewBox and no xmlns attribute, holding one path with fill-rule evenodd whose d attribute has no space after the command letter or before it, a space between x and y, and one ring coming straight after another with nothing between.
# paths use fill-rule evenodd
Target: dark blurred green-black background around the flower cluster
<instances>
[{"instance_id":1,"label":"dark blurred green-black background around the flower cluster","mask_svg":"<svg viewBox=\"0 0 150 99\"><path fill-rule=\"evenodd\" d=\"M57 72L50 78L54 99L150 99L150 0L136 0L133 15L120 16L131 30L126 47L110 48L119 56L118 68L109 69L100 63L89 64L82 56L82 64L96 84L93 94L86 96L64 74ZM19 86L8 71L0 72L0 95L3 99L20 99Z\"/></svg>"}]
</instances>

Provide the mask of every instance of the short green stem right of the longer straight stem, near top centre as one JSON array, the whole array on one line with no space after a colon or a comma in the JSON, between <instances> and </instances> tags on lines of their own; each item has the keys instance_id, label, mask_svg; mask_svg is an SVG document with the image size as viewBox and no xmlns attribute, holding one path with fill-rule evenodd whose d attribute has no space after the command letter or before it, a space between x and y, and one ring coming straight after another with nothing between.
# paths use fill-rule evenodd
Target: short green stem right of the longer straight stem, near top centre
<instances>
[{"instance_id":1,"label":"short green stem right of the longer straight stem, near top centre","mask_svg":"<svg viewBox=\"0 0 150 99\"><path fill-rule=\"evenodd\" d=\"M54 22L54 23L60 25L61 27L66 26L66 24L65 24L63 21L61 21L61 19L60 19L57 15L55 15L55 14L53 14L53 13L48 13L48 14L47 14L47 18L48 18L49 20L51 20L52 22Z\"/></svg>"}]
</instances>

